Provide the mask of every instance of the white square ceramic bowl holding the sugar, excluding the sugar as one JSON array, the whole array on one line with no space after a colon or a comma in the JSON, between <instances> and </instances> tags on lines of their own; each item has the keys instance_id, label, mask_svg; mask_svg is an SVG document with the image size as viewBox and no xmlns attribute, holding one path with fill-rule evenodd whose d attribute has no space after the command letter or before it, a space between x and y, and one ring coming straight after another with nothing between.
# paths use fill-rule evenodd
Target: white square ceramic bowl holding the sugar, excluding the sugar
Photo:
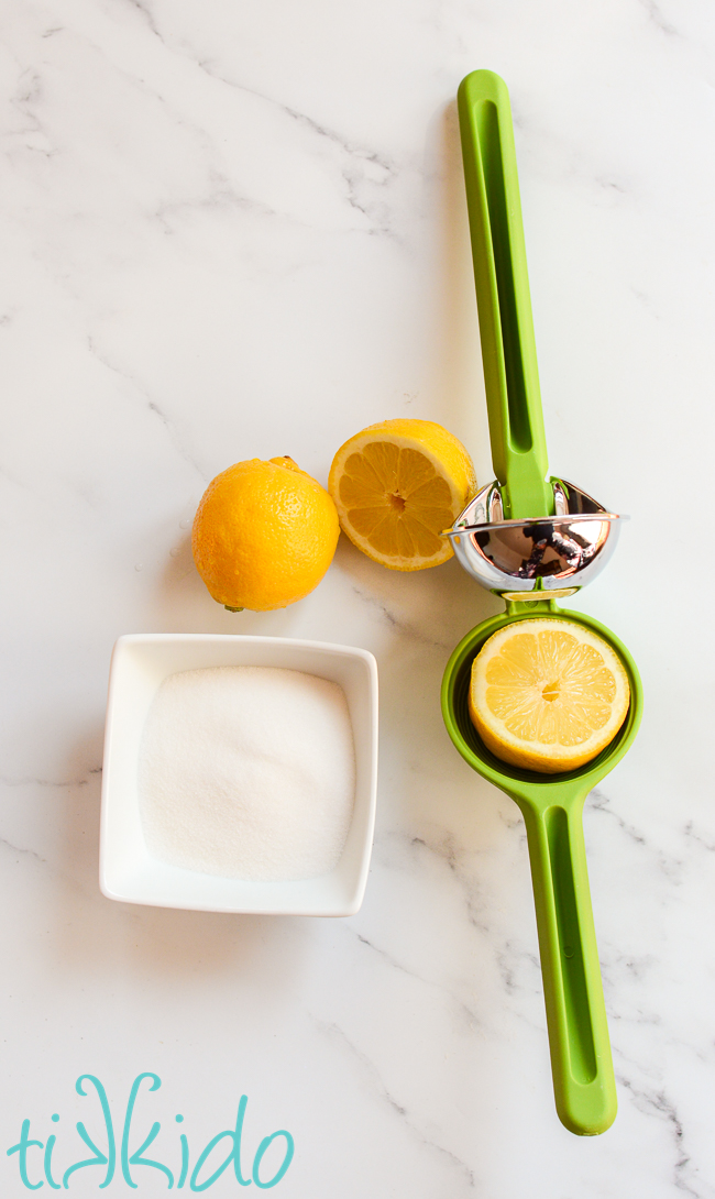
<instances>
[{"instance_id":1,"label":"white square ceramic bowl holding the sugar, excluding the sugar","mask_svg":"<svg viewBox=\"0 0 715 1199\"><path fill-rule=\"evenodd\" d=\"M139 746L154 697L172 674L204 667L284 667L338 683L355 742L355 807L330 874L252 882L186 870L151 857L139 815ZM120 637L112 655L104 733L100 887L109 899L204 911L350 916L365 894L378 771L378 671L372 653L323 641L211 633Z\"/></svg>"}]
</instances>

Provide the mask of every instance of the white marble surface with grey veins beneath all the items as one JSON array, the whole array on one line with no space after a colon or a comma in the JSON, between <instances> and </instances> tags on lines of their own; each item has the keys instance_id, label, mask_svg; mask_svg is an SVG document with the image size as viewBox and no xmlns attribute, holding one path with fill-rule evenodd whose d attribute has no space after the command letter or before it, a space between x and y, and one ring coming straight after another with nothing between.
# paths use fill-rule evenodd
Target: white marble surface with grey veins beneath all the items
<instances>
[{"instance_id":1,"label":"white marble surface with grey veins beneath all the items","mask_svg":"<svg viewBox=\"0 0 715 1199\"><path fill-rule=\"evenodd\" d=\"M286 1199L710 1199L711 5L6 0L1 43L2 1194L26 1193L24 1119L61 1174L88 1156L77 1120L102 1143L78 1076L121 1125L154 1071L150 1155L179 1169L180 1111L193 1162L245 1093L248 1169L295 1139ZM581 600L647 689L587 808L620 1110L585 1140L553 1108L521 818L439 713L495 602L455 562L402 576L342 543L302 603L233 616L188 549L224 466L289 453L325 481L386 416L443 422L491 477L453 103L479 66L512 96L552 469L632 516ZM101 897L109 653L139 631L375 653L358 916Z\"/></svg>"}]
</instances>

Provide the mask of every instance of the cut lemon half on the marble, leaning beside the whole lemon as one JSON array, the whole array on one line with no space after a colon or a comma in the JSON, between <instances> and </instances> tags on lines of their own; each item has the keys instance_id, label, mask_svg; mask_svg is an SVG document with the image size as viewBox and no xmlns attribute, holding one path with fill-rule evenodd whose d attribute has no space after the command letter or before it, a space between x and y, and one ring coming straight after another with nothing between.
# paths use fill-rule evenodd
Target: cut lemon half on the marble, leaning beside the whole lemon
<instances>
[{"instance_id":1,"label":"cut lemon half on the marble, leaning beside the whole lemon","mask_svg":"<svg viewBox=\"0 0 715 1199\"><path fill-rule=\"evenodd\" d=\"M371 424L336 453L328 488L341 528L363 554L393 571L452 556L449 529L476 492L471 459L432 421Z\"/></svg>"}]
</instances>

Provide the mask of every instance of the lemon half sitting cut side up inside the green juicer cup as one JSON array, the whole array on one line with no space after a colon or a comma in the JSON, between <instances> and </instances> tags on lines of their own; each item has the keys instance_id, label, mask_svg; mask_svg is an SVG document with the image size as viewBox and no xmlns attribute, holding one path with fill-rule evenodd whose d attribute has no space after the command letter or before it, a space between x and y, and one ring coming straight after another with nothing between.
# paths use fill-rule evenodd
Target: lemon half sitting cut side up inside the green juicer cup
<instances>
[{"instance_id":1,"label":"lemon half sitting cut side up inside the green juicer cup","mask_svg":"<svg viewBox=\"0 0 715 1199\"><path fill-rule=\"evenodd\" d=\"M506 625L471 665L474 727L497 758L527 770L583 766L613 741L629 703L615 650L567 619Z\"/></svg>"}]
</instances>

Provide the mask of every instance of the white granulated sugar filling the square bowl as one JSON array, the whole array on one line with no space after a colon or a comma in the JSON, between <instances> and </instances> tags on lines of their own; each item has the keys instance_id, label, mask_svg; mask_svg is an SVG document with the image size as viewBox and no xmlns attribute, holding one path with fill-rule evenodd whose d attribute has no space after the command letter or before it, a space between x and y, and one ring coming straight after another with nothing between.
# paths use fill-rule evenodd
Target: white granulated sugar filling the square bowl
<instances>
[{"instance_id":1,"label":"white granulated sugar filling the square bowl","mask_svg":"<svg viewBox=\"0 0 715 1199\"><path fill-rule=\"evenodd\" d=\"M299 670L169 675L139 754L150 854L224 878L308 879L343 850L355 752L341 687Z\"/></svg>"}]
</instances>

